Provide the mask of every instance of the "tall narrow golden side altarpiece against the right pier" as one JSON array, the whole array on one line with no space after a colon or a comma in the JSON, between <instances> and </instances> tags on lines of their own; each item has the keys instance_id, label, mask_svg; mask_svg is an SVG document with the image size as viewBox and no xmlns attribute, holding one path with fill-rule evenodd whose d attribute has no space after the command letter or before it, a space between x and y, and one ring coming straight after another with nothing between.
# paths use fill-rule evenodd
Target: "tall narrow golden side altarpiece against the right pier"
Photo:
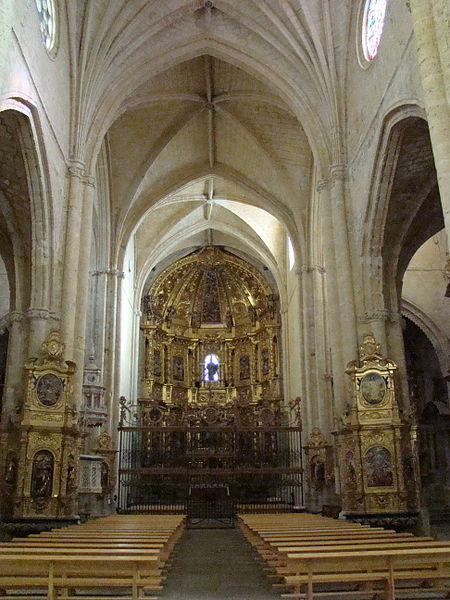
<instances>
[{"instance_id":1,"label":"tall narrow golden side altarpiece against the right pier","mask_svg":"<svg viewBox=\"0 0 450 600\"><path fill-rule=\"evenodd\" d=\"M396 370L372 334L346 369L353 403L336 436L342 510L353 520L408 525L418 510L416 427L399 410Z\"/></svg>"}]
</instances>

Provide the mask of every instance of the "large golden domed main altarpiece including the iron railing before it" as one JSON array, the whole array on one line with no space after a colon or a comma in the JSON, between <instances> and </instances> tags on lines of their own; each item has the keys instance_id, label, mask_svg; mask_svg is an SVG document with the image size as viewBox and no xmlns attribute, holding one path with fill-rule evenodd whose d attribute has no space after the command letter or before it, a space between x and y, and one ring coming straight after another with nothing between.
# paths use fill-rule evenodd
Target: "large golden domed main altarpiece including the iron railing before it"
<instances>
[{"instance_id":1,"label":"large golden domed main altarpiece including the iron railing before it","mask_svg":"<svg viewBox=\"0 0 450 600\"><path fill-rule=\"evenodd\" d=\"M300 428L288 431L279 328L268 280L224 249L157 276L142 304L142 397L122 402L120 510L183 510L202 495L216 508L230 496L297 501L301 445L289 436Z\"/></svg>"}]
</instances>

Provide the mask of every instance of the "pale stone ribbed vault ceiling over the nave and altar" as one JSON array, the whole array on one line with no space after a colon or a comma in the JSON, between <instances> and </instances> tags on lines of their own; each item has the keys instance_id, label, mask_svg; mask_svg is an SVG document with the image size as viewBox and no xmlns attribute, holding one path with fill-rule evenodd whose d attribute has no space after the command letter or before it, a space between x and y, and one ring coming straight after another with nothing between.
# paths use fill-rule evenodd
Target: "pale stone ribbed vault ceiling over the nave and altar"
<instances>
[{"instance_id":1,"label":"pale stone ribbed vault ceiling over the nave and altar","mask_svg":"<svg viewBox=\"0 0 450 600\"><path fill-rule=\"evenodd\" d=\"M138 272L212 238L272 265L286 234L303 243L313 163L339 161L331 23L350 6L86 0L77 143L106 134L116 248L137 234Z\"/></svg>"}]
</instances>

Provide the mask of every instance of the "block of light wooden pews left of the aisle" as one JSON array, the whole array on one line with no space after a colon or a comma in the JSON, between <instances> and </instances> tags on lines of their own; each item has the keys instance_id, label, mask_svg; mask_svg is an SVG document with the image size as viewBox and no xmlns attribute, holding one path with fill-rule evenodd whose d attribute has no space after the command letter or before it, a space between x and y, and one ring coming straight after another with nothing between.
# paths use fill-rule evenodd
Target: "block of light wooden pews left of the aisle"
<instances>
[{"instance_id":1,"label":"block of light wooden pews left of the aisle","mask_svg":"<svg viewBox=\"0 0 450 600\"><path fill-rule=\"evenodd\" d=\"M15 538L0 544L0 596L151 600L184 526L181 515L113 515Z\"/></svg>"}]
</instances>

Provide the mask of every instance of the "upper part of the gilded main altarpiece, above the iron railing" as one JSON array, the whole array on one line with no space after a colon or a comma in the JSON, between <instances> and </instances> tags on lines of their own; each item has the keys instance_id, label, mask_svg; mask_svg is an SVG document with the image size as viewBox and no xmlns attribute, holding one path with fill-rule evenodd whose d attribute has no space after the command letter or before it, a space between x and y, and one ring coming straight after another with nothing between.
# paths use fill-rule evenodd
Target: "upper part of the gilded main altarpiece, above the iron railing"
<instances>
[{"instance_id":1,"label":"upper part of the gilded main altarpiece, above the iron railing","mask_svg":"<svg viewBox=\"0 0 450 600\"><path fill-rule=\"evenodd\" d=\"M278 299L252 265L203 248L156 278L142 313L143 405L280 399Z\"/></svg>"}]
</instances>

